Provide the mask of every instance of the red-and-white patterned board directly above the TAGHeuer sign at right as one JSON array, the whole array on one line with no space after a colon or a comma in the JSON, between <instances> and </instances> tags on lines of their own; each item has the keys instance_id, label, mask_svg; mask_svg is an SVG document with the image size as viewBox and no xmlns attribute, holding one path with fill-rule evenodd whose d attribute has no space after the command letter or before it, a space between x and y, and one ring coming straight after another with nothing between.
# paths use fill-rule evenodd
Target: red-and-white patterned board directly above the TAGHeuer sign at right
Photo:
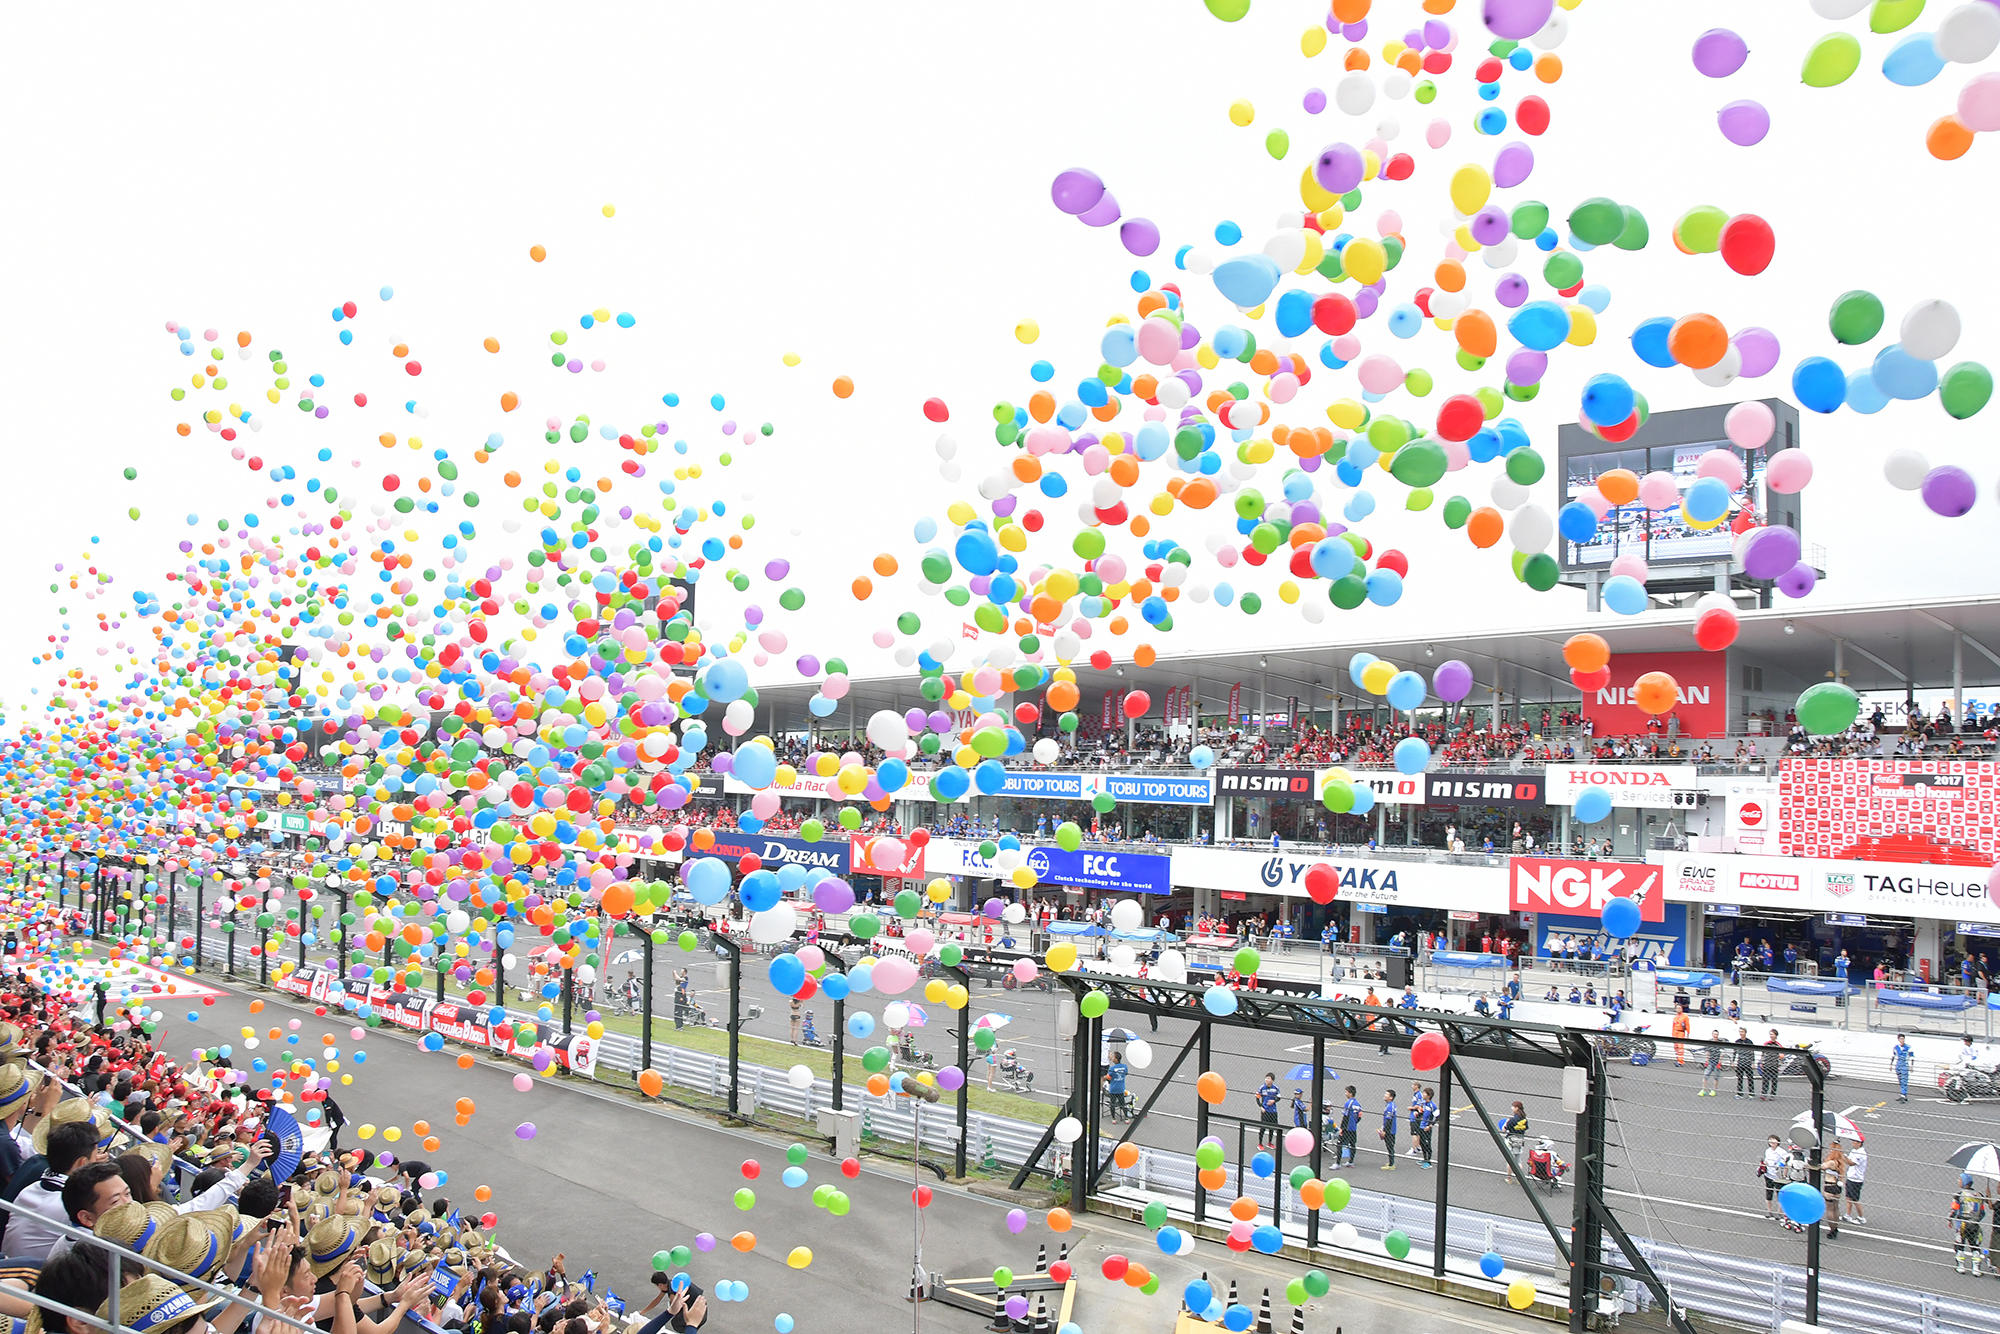
<instances>
[{"instance_id":1,"label":"red-and-white patterned board directly above the TAGHeuer sign at right","mask_svg":"<svg viewBox=\"0 0 2000 1334\"><path fill-rule=\"evenodd\" d=\"M1804 760L1778 766L1780 848L1788 856L1902 860L2000 856L2000 766L1978 760ZM1894 856L1894 854L1892 854Z\"/></svg>"}]
</instances>

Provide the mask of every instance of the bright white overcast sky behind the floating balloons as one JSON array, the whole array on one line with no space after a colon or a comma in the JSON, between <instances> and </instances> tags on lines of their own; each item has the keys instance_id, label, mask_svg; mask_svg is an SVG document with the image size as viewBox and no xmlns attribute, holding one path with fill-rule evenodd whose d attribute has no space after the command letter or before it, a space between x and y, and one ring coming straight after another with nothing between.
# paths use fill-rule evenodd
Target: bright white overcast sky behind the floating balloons
<instances>
[{"instance_id":1,"label":"bright white overcast sky behind the floating balloons","mask_svg":"<svg viewBox=\"0 0 2000 1334\"><path fill-rule=\"evenodd\" d=\"M1464 30L1476 14L1462 2L1450 20ZM236 388L246 402L258 396L270 418L246 442L252 452L292 462L300 480L314 470L336 476L346 490L388 470L416 472L406 450L374 444L380 430L412 426L426 448L444 444L462 462L474 442L504 430L510 444L492 472L512 464L538 478L548 414L590 412L620 426L664 416L672 434L712 452L716 414L704 400L722 392L722 416L772 420L778 434L738 450L748 464L700 494L758 516L746 568L792 560L788 582L812 600L782 618L790 652L846 652L856 670L884 668L886 654L862 650L902 608L926 618L918 644L956 634L958 612L918 598L910 580L862 608L846 596L848 580L878 550L912 568L910 524L972 498L972 482L1012 458L992 444L988 408L1026 400L1030 362L1056 362L1052 388L1094 370L1106 318L1132 310L1132 268L1180 282L1204 332L1234 322L1212 284L1172 272L1174 246L1208 242L1224 218L1242 224L1246 248L1260 244L1298 208L1296 180L1318 148L1362 142L1390 112L1402 122L1396 146L1416 154L1418 172L1370 186L1350 226L1372 230L1382 208L1402 212L1412 254L1390 276L1390 300L1404 298L1440 258L1436 222L1448 216L1452 170L1490 164L1518 138L1470 130L1478 104L1462 68L1430 108L1404 100L1378 102L1364 118L1306 116L1300 96L1332 90L1344 50L1336 38L1316 60L1300 54L1300 32L1320 16L1324 4L1274 0L1256 0L1250 18L1230 26L1198 0L208 4L198 14L130 8L116 24L88 26L64 6L18 10L0 74L12 126L0 386L18 562L0 622L0 698L18 706L30 684L46 692L48 670L28 660L58 620L52 562L76 568L90 550L116 578L102 594L112 608L130 608L134 588L172 598L160 572L180 564L174 542L212 534L216 514L260 508L272 490L218 438L172 432L188 406L168 402L166 390L184 382L188 364L166 320L226 336L248 328L256 362L284 348L294 384L330 372L322 402L334 402L336 416L318 424L288 404L262 404L262 378L240 376ZM1980 142L1958 162L1924 152L1926 126L1952 108L1970 70L1950 66L1928 88L1896 88L1878 72L1896 38L1870 36L1860 18L1842 24L1862 36L1860 74L1840 88L1804 88L1800 58L1830 28L1806 0L1584 0L1570 18L1560 84L1512 72L1504 80L1500 106L1542 92L1554 126L1530 140L1538 166L1528 184L1498 198L1546 200L1560 220L1584 196L1606 194L1648 216L1652 246L1584 256L1586 276L1614 292L1604 332L1596 348L1558 352L1542 396L1512 408L1550 460L1556 424L1574 420L1576 390L1598 370L1628 376L1654 410L1782 396L1796 360L1832 354L1856 368L1888 342L1904 308L1932 296L1964 316L1950 360L2000 358L1996 144ZM1378 52L1412 20L1422 20L1414 0L1378 0L1366 46ZM1716 24L1752 46L1748 66L1720 82L1688 60L1696 34ZM1460 62L1484 40L1464 32ZM1236 98L1256 104L1254 126L1230 124ZM1734 148L1716 132L1716 108L1734 98L1770 106L1774 130L1762 146ZM1424 148L1432 116L1454 126L1436 152ZM1286 162L1264 154L1270 128L1290 132ZM1134 260L1116 228L1060 214L1048 184L1070 166L1100 172L1128 216L1156 220L1162 252ZM604 202L616 204L616 218L600 216ZM1678 254L1670 226L1692 204L1764 214L1778 234L1772 268L1742 278L1718 256ZM550 248L540 266L526 260L536 242ZM1476 260L1468 268L1480 304L1498 310L1494 274ZM1536 276L1540 254L1526 250L1514 268ZM384 284L396 288L388 306L374 296ZM1826 308L1850 286L1878 292L1890 312L1890 332L1866 350L1840 350L1826 334ZM362 306L350 350L338 348L340 326L326 314L342 300ZM610 370L552 370L546 332L574 334L576 316L596 306L640 320L580 340L582 354L606 356ZM1730 328L1776 330L1780 370L1708 390L1632 356L1632 324L1690 310ZM1034 348L1014 340L1022 318L1040 322ZM1498 380L1498 364L1482 376L1458 372L1450 336L1434 328L1398 342L1378 316L1362 332L1368 350L1438 376L1432 398L1388 404L1404 416L1428 420L1446 392ZM502 338L502 356L480 352L486 334ZM386 354L398 338L424 360L420 380ZM1314 334L1298 346L1310 354L1318 342ZM786 368L786 352L804 364ZM854 376L854 398L828 392L836 374ZM1308 406L1280 420L1324 422L1320 406L1354 392L1350 376L1322 370L1302 394ZM502 388L524 398L510 418L496 410ZM354 390L376 406L348 406ZM384 406L412 390L430 406L422 424ZM660 406L668 390L682 394L678 410ZM932 394L950 404L968 462L958 486L938 478L938 428L920 414ZM1996 412L1952 422L1926 400L1874 418L1808 414L1818 478L1804 498L1804 536L1826 546L1830 570L1816 604L2000 590L1988 554ZM334 466L312 466L320 446L334 448ZM1886 490L1880 460L1898 446L1970 468L1980 508L1946 522L1916 496ZM564 446L572 456L590 476L622 458L602 442ZM358 472L350 458L362 460ZM138 482L120 478L126 466L140 470ZM1482 502L1490 466L1472 472L1448 478L1440 498L1464 490ZM658 458L652 476L662 476ZM1402 514L1402 488L1384 482L1372 482L1384 506L1364 532L1410 554L1400 606L1336 612L1314 630L1274 598L1256 620L1196 614L1182 602L1180 628L1154 638L1162 654L1216 648L1218 634L1230 648L1352 648L1582 614L1580 594L1528 594L1498 550L1472 552L1436 512ZM506 506L492 504L500 488L490 478L476 486L490 498L480 510L490 530ZM1560 504L1554 476L1538 500ZM1066 550L1072 502L1042 506L1062 540L1038 552ZM132 504L144 510L140 522L124 516ZM196 510L204 524L188 530L184 516ZM266 512L266 522L284 514L294 512ZM1204 532L1224 522L1218 506L1168 532L1200 550ZM88 548L90 534L102 546ZM1276 582L1244 574L1226 578L1266 592ZM776 588L754 592L764 606L776 602ZM62 602L92 652L98 640L82 626L98 604L68 592Z\"/></svg>"}]
</instances>

